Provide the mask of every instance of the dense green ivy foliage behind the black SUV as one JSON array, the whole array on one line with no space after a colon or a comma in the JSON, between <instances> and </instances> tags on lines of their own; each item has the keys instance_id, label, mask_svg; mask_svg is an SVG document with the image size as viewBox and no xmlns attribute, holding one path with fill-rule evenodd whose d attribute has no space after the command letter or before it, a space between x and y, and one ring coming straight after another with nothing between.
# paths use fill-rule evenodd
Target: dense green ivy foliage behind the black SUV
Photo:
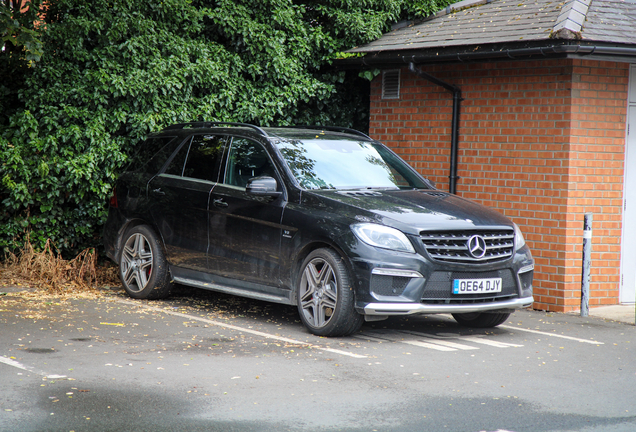
<instances>
[{"instance_id":1,"label":"dense green ivy foliage behind the black SUV","mask_svg":"<svg viewBox=\"0 0 636 432\"><path fill-rule=\"evenodd\" d=\"M14 66L28 69L4 90L15 100L0 117L0 249L19 248L27 232L67 254L98 245L128 155L171 123L364 128L368 81L329 64L438 3L51 0L41 34L0 9L13 25L3 40L25 35Z\"/></svg>"}]
</instances>

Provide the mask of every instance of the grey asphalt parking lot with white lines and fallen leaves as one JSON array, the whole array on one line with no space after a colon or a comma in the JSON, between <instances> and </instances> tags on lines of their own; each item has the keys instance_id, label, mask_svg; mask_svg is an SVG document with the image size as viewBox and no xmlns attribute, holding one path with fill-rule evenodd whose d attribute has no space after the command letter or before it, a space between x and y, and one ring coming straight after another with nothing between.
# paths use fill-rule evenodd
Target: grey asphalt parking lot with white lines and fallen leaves
<instances>
[{"instance_id":1,"label":"grey asphalt parking lot with white lines and fallen leaves","mask_svg":"<svg viewBox=\"0 0 636 432\"><path fill-rule=\"evenodd\" d=\"M632 306L321 338L292 307L200 290L0 291L1 431L636 430Z\"/></svg>"}]
</instances>

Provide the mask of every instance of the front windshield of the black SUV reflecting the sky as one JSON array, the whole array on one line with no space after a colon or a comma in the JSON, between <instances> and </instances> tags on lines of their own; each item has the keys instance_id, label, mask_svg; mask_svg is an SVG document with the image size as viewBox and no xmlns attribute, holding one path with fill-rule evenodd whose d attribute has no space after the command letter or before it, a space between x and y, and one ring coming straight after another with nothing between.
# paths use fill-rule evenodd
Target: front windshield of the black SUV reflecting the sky
<instances>
[{"instance_id":1,"label":"front windshield of the black SUV reflecting the sky","mask_svg":"<svg viewBox=\"0 0 636 432\"><path fill-rule=\"evenodd\" d=\"M305 189L429 189L402 159L377 143L333 136L277 143Z\"/></svg>"}]
</instances>

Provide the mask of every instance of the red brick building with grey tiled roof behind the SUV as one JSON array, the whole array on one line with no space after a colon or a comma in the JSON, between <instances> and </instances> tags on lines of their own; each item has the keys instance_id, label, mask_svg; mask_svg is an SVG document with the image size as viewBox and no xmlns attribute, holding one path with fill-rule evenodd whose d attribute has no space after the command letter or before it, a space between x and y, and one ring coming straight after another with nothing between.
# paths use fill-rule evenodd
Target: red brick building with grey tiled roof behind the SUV
<instances>
[{"instance_id":1,"label":"red brick building with grey tiled roof behind the SUV","mask_svg":"<svg viewBox=\"0 0 636 432\"><path fill-rule=\"evenodd\" d=\"M634 302L635 29L632 0L466 0L340 66L380 70L371 136L515 221L536 260L535 308L572 311L585 213L590 307Z\"/></svg>"}]
</instances>

